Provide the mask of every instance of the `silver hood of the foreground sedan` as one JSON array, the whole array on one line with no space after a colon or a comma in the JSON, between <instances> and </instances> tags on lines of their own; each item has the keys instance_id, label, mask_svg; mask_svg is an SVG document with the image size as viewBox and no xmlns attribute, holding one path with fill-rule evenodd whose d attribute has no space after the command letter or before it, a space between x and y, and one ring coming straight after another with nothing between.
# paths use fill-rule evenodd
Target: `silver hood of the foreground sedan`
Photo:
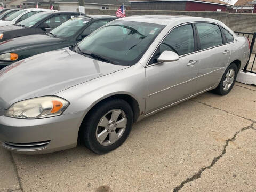
<instances>
[{"instance_id":1,"label":"silver hood of the foreground sedan","mask_svg":"<svg viewBox=\"0 0 256 192\"><path fill-rule=\"evenodd\" d=\"M0 70L0 110L128 67L94 60L69 48L23 59Z\"/></svg>"}]
</instances>

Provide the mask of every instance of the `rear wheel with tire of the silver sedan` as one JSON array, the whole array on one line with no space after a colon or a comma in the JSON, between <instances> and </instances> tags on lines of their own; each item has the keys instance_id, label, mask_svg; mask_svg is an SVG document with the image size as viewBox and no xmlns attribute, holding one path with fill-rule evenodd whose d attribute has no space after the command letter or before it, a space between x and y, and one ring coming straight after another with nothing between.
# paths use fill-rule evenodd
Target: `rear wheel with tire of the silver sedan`
<instances>
[{"instance_id":1,"label":"rear wheel with tire of the silver sedan","mask_svg":"<svg viewBox=\"0 0 256 192\"><path fill-rule=\"evenodd\" d=\"M231 78L231 76L229 78L227 78L228 73L230 73L230 71L234 72L233 79ZM217 88L214 90L214 92L219 95L228 94L235 84L237 71L238 71L238 69L237 69L237 66L235 65L235 63L231 63L228 66L228 68L225 70L225 72L221 78L221 81L220 81L219 85L217 86ZM227 84L227 82L228 82L228 84Z\"/></svg>"}]
</instances>

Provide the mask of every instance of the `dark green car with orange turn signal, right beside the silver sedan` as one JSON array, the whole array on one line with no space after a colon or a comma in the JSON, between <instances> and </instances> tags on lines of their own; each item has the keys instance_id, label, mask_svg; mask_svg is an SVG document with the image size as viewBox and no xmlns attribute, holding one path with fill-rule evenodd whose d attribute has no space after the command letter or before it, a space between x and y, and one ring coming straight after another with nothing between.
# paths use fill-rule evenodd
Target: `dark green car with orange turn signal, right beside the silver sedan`
<instances>
[{"instance_id":1,"label":"dark green car with orange turn signal, right beside the silver sedan","mask_svg":"<svg viewBox=\"0 0 256 192\"><path fill-rule=\"evenodd\" d=\"M70 19L49 33L35 34L0 43L0 69L11 63L47 51L75 45L114 16L79 16Z\"/></svg>"}]
</instances>

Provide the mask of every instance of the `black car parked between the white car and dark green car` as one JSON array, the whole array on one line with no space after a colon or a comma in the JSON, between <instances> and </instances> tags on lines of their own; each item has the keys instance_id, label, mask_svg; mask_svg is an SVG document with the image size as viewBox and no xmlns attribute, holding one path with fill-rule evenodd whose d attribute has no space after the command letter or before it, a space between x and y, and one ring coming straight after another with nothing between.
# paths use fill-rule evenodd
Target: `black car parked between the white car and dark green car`
<instances>
[{"instance_id":1,"label":"black car parked between the white car and dark green car","mask_svg":"<svg viewBox=\"0 0 256 192\"><path fill-rule=\"evenodd\" d=\"M45 11L37 13L17 24L0 27L0 36L3 34L0 42L10 38L31 34L43 34L45 31L49 32L70 18L77 17L81 14L70 11Z\"/></svg>"}]
</instances>

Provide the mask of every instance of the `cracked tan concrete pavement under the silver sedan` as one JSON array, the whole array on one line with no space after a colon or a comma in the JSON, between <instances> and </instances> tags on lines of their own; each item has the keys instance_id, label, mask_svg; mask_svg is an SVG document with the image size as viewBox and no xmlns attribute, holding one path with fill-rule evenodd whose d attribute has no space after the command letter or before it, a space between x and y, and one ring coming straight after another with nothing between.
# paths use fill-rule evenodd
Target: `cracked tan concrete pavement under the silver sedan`
<instances>
[{"instance_id":1,"label":"cracked tan concrete pavement under the silver sedan","mask_svg":"<svg viewBox=\"0 0 256 192\"><path fill-rule=\"evenodd\" d=\"M256 87L236 83L134 124L105 155L84 146L45 155L0 148L2 191L255 191Z\"/></svg>"}]
</instances>

